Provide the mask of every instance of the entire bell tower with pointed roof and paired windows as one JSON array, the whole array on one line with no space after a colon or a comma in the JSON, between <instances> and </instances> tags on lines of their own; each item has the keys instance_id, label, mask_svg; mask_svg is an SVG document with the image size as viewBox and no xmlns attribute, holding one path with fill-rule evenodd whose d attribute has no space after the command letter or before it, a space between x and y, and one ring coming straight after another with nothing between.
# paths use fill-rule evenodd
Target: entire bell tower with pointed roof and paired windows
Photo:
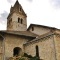
<instances>
[{"instance_id":1,"label":"entire bell tower with pointed roof and paired windows","mask_svg":"<svg viewBox=\"0 0 60 60\"><path fill-rule=\"evenodd\" d=\"M18 0L11 6L10 13L7 17L7 30L12 31L26 31L27 30L27 16L19 4Z\"/></svg>"}]
</instances>

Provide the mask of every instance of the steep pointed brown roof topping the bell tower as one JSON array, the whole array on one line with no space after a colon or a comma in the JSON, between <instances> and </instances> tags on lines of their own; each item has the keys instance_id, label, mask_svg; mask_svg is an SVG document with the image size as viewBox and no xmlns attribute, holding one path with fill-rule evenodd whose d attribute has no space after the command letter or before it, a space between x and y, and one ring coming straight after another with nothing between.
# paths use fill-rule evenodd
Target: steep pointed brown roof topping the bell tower
<instances>
[{"instance_id":1,"label":"steep pointed brown roof topping the bell tower","mask_svg":"<svg viewBox=\"0 0 60 60\"><path fill-rule=\"evenodd\" d=\"M20 9L21 9L21 11L19 11ZM24 10L23 10L21 4L18 2L18 0L16 0L16 2L15 2L15 4L14 4L13 7L11 6L11 8L10 8L10 13L9 13L7 19L8 19L14 12L18 12L18 13L21 12L24 16L27 16L26 13L25 13Z\"/></svg>"}]
</instances>

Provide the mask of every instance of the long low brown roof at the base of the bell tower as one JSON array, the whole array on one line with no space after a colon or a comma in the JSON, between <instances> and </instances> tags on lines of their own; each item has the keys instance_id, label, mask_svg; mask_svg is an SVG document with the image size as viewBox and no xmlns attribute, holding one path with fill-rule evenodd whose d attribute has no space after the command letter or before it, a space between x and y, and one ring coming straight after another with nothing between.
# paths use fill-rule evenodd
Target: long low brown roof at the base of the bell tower
<instances>
[{"instance_id":1,"label":"long low brown roof at the base of the bell tower","mask_svg":"<svg viewBox=\"0 0 60 60\"><path fill-rule=\"evenodd\" d=\"M28 37L36 37L38 35L31 33L29 31L0 31L0 33L4 34L14 34L14 35L20 35L20 36L28 36Z\"/></svg>"}]
</instances>

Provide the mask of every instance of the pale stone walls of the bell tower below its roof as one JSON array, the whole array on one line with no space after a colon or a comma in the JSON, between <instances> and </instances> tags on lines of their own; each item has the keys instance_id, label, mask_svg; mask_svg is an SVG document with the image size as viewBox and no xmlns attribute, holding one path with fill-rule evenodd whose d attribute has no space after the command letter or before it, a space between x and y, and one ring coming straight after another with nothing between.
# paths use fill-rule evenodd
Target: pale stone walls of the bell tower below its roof
<instances>
[{"instance_id":1,"label":"pale stone walls of the bell tower below its roof","mask_svg":"<svg viewBox=\"0 0 60 60\"><path fill-rule=\"evenodd\" d=\"M22 24L18 23L18 17L23 19ZM9 23L9 20L12 21ZM7 30L13 30L13 31L26 31L27 30L27 20L26 17L19 14L19 13L13 13L7 22Z\"/></svg>"}]
</instances>

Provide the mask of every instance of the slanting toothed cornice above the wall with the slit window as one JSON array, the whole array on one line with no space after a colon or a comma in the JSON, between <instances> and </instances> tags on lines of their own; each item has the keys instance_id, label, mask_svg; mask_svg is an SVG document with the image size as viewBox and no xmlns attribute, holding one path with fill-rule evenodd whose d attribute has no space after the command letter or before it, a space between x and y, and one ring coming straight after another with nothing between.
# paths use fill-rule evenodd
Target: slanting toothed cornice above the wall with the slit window
<instances>
[{"instance_id":1,"label":"slanting toothed cornice above the wall with the slit window","mask_svg":"<svg viewBox=\"0 0 60 60\"><path fill-rule=\"evenodd\" d=\"M43 37L38 36L37 38L35 38L35 39L33 39L33 40L25 43L24 46L27 46L27 45L29 45L29 44L34 44L34 43L37 43L37 42L39 42L39 41L42 42L42 41L48 40L48 39L51 38L53 35L55 35L55 33L51 33L51 34L45 35L45 36L43 36Z\"/></svg>"}]
</instances>

